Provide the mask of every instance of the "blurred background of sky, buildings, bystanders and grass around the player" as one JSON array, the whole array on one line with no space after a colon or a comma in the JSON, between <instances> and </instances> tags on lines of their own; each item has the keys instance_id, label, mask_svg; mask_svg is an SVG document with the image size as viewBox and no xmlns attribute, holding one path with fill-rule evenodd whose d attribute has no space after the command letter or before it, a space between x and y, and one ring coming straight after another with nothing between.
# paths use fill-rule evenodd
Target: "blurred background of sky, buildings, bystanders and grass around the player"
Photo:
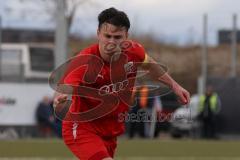
<instances>
[{"instance_id":1,"label":"blurred background of sky, buildings, bystanders and grass around the player","mask_svg":"<svg viewBox=\"0 0 240 160\"><path fill-rule=\"evenodd\" d=\"M240 159L239 6L234 0L0 1L0 159L74 159L61 141L48 77L97 43L97 16L109 7L128 14L130 39L192 95L186 108L173 93L146 99L143 86L117 159Z\"/></svg>"}]
</instances>

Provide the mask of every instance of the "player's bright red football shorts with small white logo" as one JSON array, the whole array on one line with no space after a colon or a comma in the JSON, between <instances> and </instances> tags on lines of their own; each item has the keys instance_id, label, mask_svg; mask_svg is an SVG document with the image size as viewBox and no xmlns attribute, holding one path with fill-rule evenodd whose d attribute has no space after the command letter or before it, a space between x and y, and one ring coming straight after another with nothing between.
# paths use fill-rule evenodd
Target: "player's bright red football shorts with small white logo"
<instances>
[{"instance_id":1,"label":"player's bright red football shorts with small white logo","mask_svg":"<svg viewBox=\"0 0 240 160\"><path fill-rule=\"evenodd\" d=\"M62 135L65 144L80 160L102 160L114 156L117 138L103 138L77 123L63 124Z\"/></svg>"}]
</instances>

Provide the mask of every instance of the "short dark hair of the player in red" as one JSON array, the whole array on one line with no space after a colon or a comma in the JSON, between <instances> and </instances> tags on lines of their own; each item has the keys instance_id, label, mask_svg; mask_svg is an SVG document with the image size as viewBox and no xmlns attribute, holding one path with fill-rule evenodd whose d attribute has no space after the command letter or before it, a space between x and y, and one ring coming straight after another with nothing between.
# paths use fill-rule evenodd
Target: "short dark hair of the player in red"
<instances>
[{"instance_id":1,"label":"short dark hair of the player in red","mask_svg":"<svg viewBox=\"0 0 240 160\"><path fill-rule=\"evenodd\" d=\"M103 23L109 23L117 27L125 27L128 31L130 21L128 16L123 11L119 11L113 7L103 10L98 15L98 28L100 29Z\"/></svg>"}]
</instances>

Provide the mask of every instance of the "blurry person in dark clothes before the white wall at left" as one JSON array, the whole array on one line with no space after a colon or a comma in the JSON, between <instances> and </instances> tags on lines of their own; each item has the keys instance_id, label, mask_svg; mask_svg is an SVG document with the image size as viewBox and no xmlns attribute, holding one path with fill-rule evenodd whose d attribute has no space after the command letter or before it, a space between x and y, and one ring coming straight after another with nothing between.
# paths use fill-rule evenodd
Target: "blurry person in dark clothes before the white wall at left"
<instances>
[{"instance_id":1,"label":"blurry person in dark clothes before the white wall at left","mask_svg":"<svg viewBox=\"0 0 240 160\"><path fill-rule=\"evenodd\" d=\"M52 100L48 96L44 96L38 104L36 110L36 119L40 135L43 137L50 137L55 132L55 118L53 115L53 108L51 107Z\"/></svg>"}]
</instances>

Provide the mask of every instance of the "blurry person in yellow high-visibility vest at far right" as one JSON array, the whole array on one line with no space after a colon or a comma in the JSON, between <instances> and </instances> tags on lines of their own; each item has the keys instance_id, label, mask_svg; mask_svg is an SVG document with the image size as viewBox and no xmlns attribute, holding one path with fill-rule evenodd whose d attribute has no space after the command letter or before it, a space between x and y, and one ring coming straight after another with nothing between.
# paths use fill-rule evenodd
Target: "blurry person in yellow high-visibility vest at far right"
<instances>
[{"instance_id":1,"label":"blurry person in yellow high-visibility vest at far right","mask_svg":"<svg viewBox=\"0 0 240 160\"><path fill-rule=\"evenodd\" d=\"M208 85L205 94L200 96L199 100L199 120L202 123L203 138L216 137L216 115L219 113L221 101L214 88Z\"/></svg>"}]
</instances>

